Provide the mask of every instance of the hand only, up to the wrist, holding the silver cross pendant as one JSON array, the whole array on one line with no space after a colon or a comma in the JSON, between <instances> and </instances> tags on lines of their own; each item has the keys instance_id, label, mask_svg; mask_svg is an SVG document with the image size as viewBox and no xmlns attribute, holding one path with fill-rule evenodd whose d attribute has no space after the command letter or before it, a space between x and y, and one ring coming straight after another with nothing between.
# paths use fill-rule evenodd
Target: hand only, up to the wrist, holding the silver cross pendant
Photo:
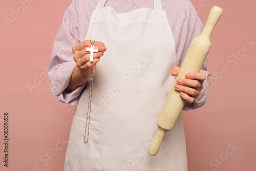
<instances>
[{"instance_id":1,"label":"hand only, up to the wrist, holding the silver cross pendant","mask_svg":"<svg viewBox=\"0 0 256 171\"><path fill-rule=\"evenodd\" d=\"M72 48L72 51L74 53L73 58L76 62L76 67L80 69L82 75L90 77L92 67L94 67L93 75L96 73L96 63L100 60L100 57L104 55L106 47L103 42L94 42L94 48L98 49L98 52L93 53L93 61L90 61L91 52L86 51L87 48L91 48L90 40L80 42Z\"/></svg>"}]
</instances>

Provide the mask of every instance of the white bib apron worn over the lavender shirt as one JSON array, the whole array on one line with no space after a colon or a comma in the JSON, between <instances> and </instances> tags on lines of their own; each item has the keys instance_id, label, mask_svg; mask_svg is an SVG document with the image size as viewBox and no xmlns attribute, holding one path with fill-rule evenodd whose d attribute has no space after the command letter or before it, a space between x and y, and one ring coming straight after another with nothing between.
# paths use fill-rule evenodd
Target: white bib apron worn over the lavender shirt
<instances>
[{"instance_id":1,"label":"white bib apron worn over the lavender shirt","mask_svg":"<svg viewBox=\"0 0 256 171\"><path fill-rule=\"evenodd\" d=\"M154 9L117 13L99 0L84 39L107 50L93 79L89 142L83 142L90 81L74 114L64 170L185 171L182 117L168 132L158 154L147 154L157 118L174 77L175 45L161 1Z\"/></svg>"}]
</instances>

